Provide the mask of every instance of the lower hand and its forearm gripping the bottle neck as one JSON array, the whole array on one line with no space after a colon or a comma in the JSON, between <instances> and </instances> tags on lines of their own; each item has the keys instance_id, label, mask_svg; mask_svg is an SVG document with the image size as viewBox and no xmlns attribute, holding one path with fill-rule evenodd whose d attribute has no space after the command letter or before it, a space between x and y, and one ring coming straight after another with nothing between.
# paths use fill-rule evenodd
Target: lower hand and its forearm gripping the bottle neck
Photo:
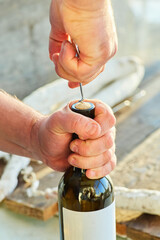
<instances>
[{"instance_id":1,"label":"lower hand and its forearm gripping the bottle neck","mask_svg":"<svg viewBox=\"0 0 160 240\"><path fill-rule=\"evenodd\" d=\"M89 178L108 174L116 164L115 117L99 100L95 119L74 113L69 103L44 116L0 91L0 150L41 160L64 171L70 164L85 168ZM72 134L80 139L72 141Z\"/></svg>"}]
</instances>

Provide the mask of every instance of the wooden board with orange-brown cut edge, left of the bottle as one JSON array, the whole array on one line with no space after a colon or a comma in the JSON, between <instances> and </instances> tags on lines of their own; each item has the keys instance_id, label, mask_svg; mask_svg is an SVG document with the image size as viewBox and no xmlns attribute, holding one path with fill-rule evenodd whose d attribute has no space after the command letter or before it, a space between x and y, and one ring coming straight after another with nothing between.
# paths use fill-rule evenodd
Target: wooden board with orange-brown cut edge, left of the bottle
<instances>
[{"instance_id":1,"label":"wooden board with orange-brown cut edge, left of the bottle","mask_svg":"<svg viewBox=\"0 0 160 240\"><path fill-rule=\"evenodd\" d=\"M36 162L31 165L34 172L37 175L40 174L42 176L40 179L39 190L57 187L62 173L52 171L47 175L42 175L42 169L44 169L44 172L47 172L49 169L46 165L39 165ZM4 200L4 203L7 208L14 212L42 220L51 218L58 211L57 198L46 199L44 196L27 197L26 184L22 180L21 175L19 178L19 186Z\"/></svg>"}]
</instances>

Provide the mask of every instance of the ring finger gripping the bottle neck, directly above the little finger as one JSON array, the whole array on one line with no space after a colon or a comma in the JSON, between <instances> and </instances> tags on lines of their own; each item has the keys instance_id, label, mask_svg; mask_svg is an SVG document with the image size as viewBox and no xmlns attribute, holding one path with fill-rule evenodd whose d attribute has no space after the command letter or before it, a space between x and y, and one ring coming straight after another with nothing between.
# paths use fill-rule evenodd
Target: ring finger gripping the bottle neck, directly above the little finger
<instances>
[{"instance_id":1,"label":"ring finger gripping the bottle neck, directly above the little finger","mask_svg":"<svg viewBox=\"0 0 160 240\"><path fill-rule=\"evenodd\" d=\"M96 169L99 166L104 166L112 158L112 150L109 149L103 154L93 156L93 157L83 157L76 153L72 153L68 157L68 162L75 167L81 169ZM95 170L93 170L95 171Z\"/></svg>"}]
</instances>

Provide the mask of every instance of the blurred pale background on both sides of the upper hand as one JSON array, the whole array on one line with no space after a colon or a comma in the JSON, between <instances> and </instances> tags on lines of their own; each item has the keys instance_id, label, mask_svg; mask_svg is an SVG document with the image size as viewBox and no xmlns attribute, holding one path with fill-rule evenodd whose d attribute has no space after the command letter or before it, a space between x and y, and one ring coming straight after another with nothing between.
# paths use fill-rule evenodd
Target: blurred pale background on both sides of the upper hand
<instances>
[{"instance_id":1,"label":"blurred pale background on both sides of the upper hand","mask_svg":"<svg viewBox=\"0 0 160 240\"><path fill-rule=\"evenodd\" d=\"M160 71L160 1L112 0L119 50ZM50 0L0 0L0 88L20 99L58 76L48 57Z\"/></svg>"}]
</instances>

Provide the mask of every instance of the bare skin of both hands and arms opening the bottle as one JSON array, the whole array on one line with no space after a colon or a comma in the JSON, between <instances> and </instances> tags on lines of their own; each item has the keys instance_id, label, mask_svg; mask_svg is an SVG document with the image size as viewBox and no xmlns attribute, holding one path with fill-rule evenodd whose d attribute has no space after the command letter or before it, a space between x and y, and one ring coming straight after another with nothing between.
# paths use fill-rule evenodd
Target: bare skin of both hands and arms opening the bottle
<instances>
[{"instance_id":1,"label":"bare skin of both hands and arms opening the bottle","mask_svg":"<svg viewBox=\"0 0 160 240\"><path fill-rule=\"evenodd\" d=\"M117 35L110 0L52 0L50 59L69 87L89 83L117 50ZM76 56L75 43L80 53ZM72 103L44 116L0 91L0 150L41 160L64 171L70 164L100 178L116 165L115 117L99 100L95 119L70 110ZM79 139L72 141L72 134Z\"/></svg>"}]
</instances>

